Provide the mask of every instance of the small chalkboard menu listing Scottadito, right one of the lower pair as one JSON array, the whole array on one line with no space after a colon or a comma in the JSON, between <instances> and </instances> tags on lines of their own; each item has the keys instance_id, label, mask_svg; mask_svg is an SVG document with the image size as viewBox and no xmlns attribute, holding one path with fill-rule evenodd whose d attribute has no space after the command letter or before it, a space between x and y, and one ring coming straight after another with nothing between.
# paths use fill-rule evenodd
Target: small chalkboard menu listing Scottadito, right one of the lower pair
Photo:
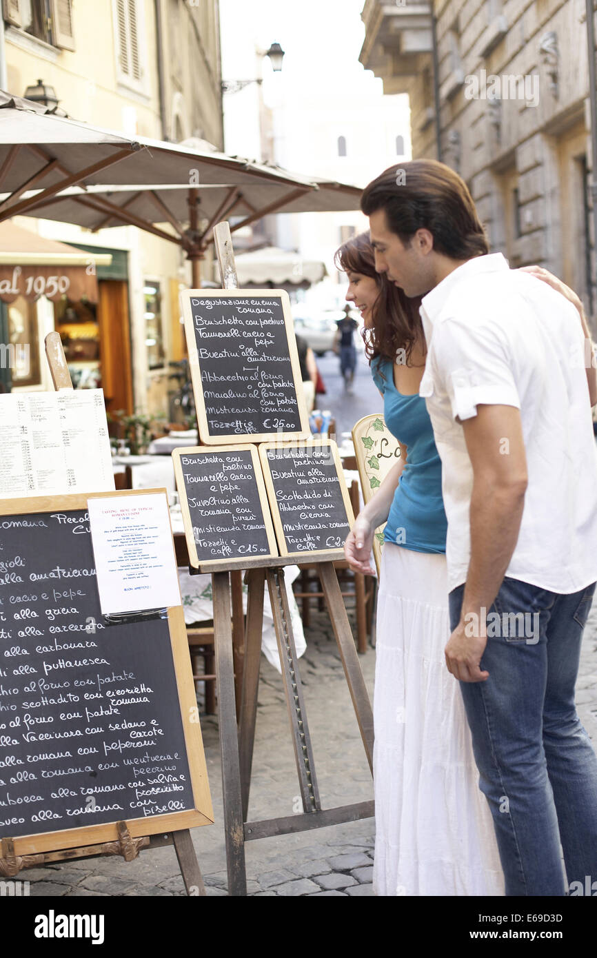
<instances>
[{"instance_id":1,"label":"small chalkboard menu listing Scottadito, right one of the lower pair","mask_svg":"<svg viewBox=\"0 0 597 958\"><path fill-rule=\"evenodd\" d=\"M264 443L260 456L280 555L343 557L354 516L335 443Z\"/></svg>"}]
</instances>

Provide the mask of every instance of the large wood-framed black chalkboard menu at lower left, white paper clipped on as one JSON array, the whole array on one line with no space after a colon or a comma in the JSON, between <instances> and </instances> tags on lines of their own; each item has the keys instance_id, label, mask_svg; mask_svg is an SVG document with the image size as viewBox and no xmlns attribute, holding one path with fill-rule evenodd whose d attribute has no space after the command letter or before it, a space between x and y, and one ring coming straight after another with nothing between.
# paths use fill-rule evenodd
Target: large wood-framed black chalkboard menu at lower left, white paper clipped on
<instances>
[{"instance_id":1,"label":"large wood-framed black chalkboard menu at lower left, white paper clipped on","mask_svg":"<svg viewBox=\"0 0 597 958\"><path fill-rule=\"evenodd\" d=\"M17 854L213 820L182 609L103 617L85 503L2 503L0 836Z\"/></svg>"}]
</instances>

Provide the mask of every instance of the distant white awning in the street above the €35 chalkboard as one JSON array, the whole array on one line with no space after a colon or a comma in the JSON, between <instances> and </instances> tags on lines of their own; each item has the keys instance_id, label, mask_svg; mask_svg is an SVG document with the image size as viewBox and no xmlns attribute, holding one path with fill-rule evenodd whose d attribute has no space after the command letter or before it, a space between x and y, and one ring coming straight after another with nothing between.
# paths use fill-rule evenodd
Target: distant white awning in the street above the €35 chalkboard
<instances>
[{"instance_id":1,"label":"distant white awning in the street above the \u20ac35 chalkboard","mask_svg":"<svg viewBox=\"0 0 597 958\"><path fill-rule=\"evenodd\" d=\"M300 253L288 253L276 246L239 253L235 260L239 285L242 287L268 284L275 288L282 285L312 285L319 283L327 275L324 262L306 260ZM219 276L216 274L217 267L218 263L215 263L216 279Z\"/></svg>"}]
</instances>

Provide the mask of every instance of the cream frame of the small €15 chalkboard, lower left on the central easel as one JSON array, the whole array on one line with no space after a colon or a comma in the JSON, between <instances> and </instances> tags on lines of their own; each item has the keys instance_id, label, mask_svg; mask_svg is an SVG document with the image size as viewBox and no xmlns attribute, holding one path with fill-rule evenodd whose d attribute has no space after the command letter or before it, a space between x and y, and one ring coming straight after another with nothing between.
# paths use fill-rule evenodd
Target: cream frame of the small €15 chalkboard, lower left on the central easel
<instances>
[{"instance_id":1,"label":"cream frame of the small \u20ac15 chalkboard, lower left on the central easel","mask_svg":"<svg viewBox=\"0 0 597 958\"><path fill-rule=\"evenodd\" d=\"M225 457L226 453L235 455L239 452L249 452L251 458L251 464L253 466L253 471L255 474L255 485L257 492L259 494L259 501L264 518L265 526L265 536L267 538L268 552L261 553L245 553L244 556L241 556L240 553L235 554L232 552L228 556L222 556L221 559L215 559L213 556L205 557L205 559L199 559L197 554L197 545L195 542L195 535L193 532L193 517L191 515L191 509L189 507L189 499L187 494L187 487L184 481L184 465L182 460L187 456L206 456L206 457ZM241 559L243 562L243 568L249 567L254 559L275 559L278 557L278 548L276 545L276 536L274 533L274 527L271 521L271 514L269 512L269 503L267 500L267 492L265 491L264 484L264 473L262 471L262 464L259 458L259 452L256 445L195 445L190 448L184 446L180 449L174 449L172 452L172 463L174 465L174 476L176 479L176 489L178 490L178 495L180 496L180 506L182 510L182 521L185 527L185 536L187 539L187 549L189 552L189 563L192 568L198 569L203 562L209 562L210 566L213 566L214 569L219 568L229 568L231 560ZM216 472L216 475L218 473ZM215 496L218 497L218 501L221 502L221 496L228 494L226 492L226 487L230 483L223 482L224 490L219 488L214 491ZM218 481L218 487L220 483ZM218 508L218 507L215 507ZM219 511L222 511L222 507L219 507ZM209 520L206 521L206 525L209 524Z\"/></svg>"}]
</instances>

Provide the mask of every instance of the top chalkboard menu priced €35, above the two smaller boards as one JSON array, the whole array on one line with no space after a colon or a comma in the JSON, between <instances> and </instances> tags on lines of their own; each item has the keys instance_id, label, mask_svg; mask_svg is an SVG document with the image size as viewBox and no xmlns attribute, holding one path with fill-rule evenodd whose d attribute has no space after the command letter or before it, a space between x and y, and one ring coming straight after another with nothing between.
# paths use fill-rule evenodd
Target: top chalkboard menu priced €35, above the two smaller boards
<instances>
[{"instance_id":1,"label":"top chalkboard menu priced \u20ac35, above the two smaller boards","mask_svg":"<svg viewBox=\"0 0 597 958\"><path fill-rule=\"evenodd\" d=\"M287 292L189 289L181 303L201 441L308 438Z\"/></svg>"}]
</instances>

